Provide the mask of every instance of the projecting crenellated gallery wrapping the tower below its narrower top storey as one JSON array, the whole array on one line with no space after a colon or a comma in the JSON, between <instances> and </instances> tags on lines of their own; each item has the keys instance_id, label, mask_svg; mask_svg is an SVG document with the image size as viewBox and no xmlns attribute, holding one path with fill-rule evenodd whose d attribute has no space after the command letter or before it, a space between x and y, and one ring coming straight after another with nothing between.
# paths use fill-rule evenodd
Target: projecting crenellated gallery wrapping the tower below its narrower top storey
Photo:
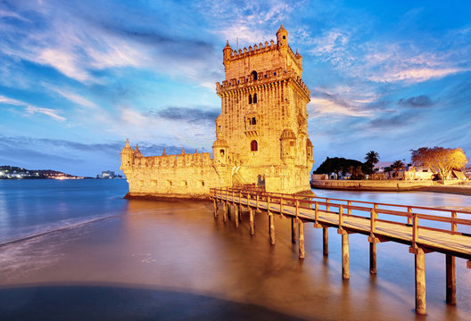
<instances>
[{"instance_id":1,"label":"projecting crenellated gallery wrapping the tower below its narrower top storey","mask_svg":"<svg viewBox=\"0 0 471 321\"><path fill-rule=\"evenodd\" d=\"M293 70L283 70L282 68L260 71L259 77L256 80L252 75L247 75L245 77L232 78L228 81L224 80L222 84L217 82L216 93L218 95L223 95L228 91L237 89L247 89L250 91L252 86L267 85L281 80L293 80L294 83L302 88L308 97L310 96L310 90L308 86L304 84L302 78Z\"/></svg>"}]
</instances>

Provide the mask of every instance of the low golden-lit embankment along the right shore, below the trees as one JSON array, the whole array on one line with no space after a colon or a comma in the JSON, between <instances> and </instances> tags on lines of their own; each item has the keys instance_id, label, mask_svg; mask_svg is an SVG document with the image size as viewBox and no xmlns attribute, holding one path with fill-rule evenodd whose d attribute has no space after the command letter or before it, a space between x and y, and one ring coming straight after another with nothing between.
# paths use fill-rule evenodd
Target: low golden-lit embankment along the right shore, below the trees
<instances>
[{"instance_id":1,"label":"low golden-lit embankment along the right shore, below the trees","mask_svg":"<svg viewBox=\"0 0 471 321\"><path fill-rule=\"evenodd\" d=\"M471 195L471 185L442 185L434 181L311 180L312 188L368 192L434 192Z\"/></svg>"}]
</instances>

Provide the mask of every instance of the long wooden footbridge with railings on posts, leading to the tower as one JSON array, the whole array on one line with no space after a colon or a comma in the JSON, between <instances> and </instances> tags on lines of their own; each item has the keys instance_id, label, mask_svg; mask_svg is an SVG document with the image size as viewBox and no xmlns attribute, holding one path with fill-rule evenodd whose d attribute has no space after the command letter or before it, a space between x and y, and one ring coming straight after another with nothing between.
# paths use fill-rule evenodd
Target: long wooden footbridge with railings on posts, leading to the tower
<instances>
[{"instance_id":1,"label":"long wooden footbridge with railings on posts, leading to the tower","mask_svg":"<svg viewBox=\"0 0 471 321\"><path fill-rule=\"evenodd\" d=\"M324 255L328 255L327 228L335 227L342 235L343 279L350 277L349 234L368 235L371 274L376 274L376 243L393 241L409 245L409 252L416 257L418 314L426 314L426 253L437 251L446 255L446 301L450 304L456 304L455 258L467 259L467 268L471 268L471 211L267 193L255 185L212 188L211 199L215 218L222 206L224 223L230 218L230 209L233 208L236 227L239 226L242 208L247 208L251 235L255 233L255 211L267 212L272 245L275 244L273 215L292 218L292 242L296 243L298 229L300 259L305 256L304 223L312 222L314 227L323 229Z\"/></svg>"}]
</instances>

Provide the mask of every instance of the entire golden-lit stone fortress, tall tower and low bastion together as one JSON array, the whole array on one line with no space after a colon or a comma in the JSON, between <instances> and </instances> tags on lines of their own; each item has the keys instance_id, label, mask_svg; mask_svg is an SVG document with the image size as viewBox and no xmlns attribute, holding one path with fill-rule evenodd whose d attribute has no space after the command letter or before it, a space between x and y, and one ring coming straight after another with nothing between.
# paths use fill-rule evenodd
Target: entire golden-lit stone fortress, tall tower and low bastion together
<instances>
[{"instance_id":1,"label":"entire golden-lit stone fortress, tall tower and low bastion together","mask_svg":"<svg viewBox=\"0 0 471 321\"><path fill-rule=\"evenodd\" d=\"M223 49L226 79L216 84L221 114L210 153L143 157L129 144L121 169L129 195L196 196L211 187L256 183L270 192L310 190L312 144L307 134L310 91L302 82L302 56L277 31L264 45Z\"/></svg>"}]
</instances>

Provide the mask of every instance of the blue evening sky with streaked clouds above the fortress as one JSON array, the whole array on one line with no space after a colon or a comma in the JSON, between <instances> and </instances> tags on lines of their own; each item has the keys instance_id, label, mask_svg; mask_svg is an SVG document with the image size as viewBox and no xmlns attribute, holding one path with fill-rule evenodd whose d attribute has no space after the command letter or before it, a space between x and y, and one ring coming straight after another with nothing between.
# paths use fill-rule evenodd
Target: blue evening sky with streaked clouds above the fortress
<instances>
[{"instance_id":1,"label":"blue evening sky with streaked clouds above the fortress","mask_svg":"<svg viewBox=\"0 0 471 321\"><path fill-rule=\"evenodd\" d=\"M222 48L276 39L303 57L314 169L329 157L471 155L471 2L0 0L0 165L119 171L211 152Z\"/></svg>"}]
</instances>

